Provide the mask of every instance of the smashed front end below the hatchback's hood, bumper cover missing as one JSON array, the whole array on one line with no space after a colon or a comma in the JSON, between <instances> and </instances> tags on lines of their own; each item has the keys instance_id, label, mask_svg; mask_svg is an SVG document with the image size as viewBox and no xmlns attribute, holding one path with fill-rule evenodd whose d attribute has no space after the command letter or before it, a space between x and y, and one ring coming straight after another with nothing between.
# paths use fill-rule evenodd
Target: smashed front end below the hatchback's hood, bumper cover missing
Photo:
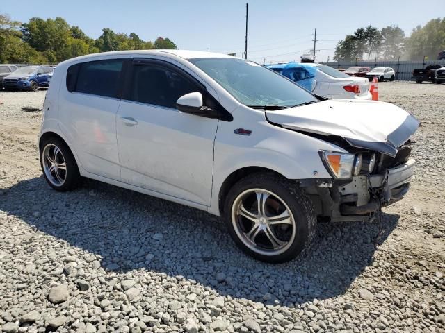
<instances>
[{"instance_id":1,"label":"smashed front end below the hatchback's hood, bumper cover missing","mask_svg":"<svg viewBox=\"0 0 445 333\"><path fill-rule=\"evenodd\" d=\"M414 173L414 160L410 158L409 143L398 148L396 156L373 151L360 151L360 171L348 179L332 178L307 186L307 194L318 208L318 216L330 221L367 221L382 206L401 200ZM369 169L371 159L375 165Z\"/></svg>"}]
</instances>

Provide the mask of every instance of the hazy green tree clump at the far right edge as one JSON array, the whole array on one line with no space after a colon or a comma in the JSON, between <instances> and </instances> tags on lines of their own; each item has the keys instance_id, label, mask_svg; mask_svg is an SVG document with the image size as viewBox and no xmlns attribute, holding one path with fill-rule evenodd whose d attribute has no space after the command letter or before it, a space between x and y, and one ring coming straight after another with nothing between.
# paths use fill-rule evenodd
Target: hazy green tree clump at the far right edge
<instances>
[{"instance_id":1,"label":"hazy green tree clump at the far right edge","mask_svg":"<svg viewBox=\"0 0 445 333\"><path fill-rule=\"evenodd\" d=\"M423 59L423 56L436 59L439 51L445 49L445 17L432 19L423 27L416 26L406 39L405 49L413 60Z\"/></svg>"}]
</instances>

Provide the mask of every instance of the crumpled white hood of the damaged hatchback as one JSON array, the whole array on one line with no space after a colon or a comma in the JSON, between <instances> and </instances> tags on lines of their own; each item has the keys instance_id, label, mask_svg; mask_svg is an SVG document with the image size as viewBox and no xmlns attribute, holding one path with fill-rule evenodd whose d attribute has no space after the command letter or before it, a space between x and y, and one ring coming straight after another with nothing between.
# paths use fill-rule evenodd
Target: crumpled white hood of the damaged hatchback
<instances>
[{"instance_id":1,"label":"crumpled white hood of the damaged hatchback","mask_svg":"<svg viewBox=\"0 0 445 333\"><path fill-rule=\"evenodd\" d=\"M351 146L395 156L419 127L411 114L391 103L329 100L266 111L268 121L302 133L336 135Z\"/></svg>"}]
</instances>

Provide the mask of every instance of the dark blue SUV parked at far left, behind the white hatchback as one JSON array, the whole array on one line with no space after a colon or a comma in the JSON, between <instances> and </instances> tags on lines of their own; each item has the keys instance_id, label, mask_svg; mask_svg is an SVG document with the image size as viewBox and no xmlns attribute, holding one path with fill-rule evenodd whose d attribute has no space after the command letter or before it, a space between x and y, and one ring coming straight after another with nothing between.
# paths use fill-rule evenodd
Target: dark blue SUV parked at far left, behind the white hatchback
<instances>
[{"instance_id":1,"label":"dark blue SUV parked at far left, behind the white hatchback","mask_svg":"<svg viewBox=\"0 0 445 333\"><path fill-rule=\"evenodd\" d=\"M48 87L53 76L53 68L49 66L20 67L3 79L3 87L7 90L31 90Z\"/></svg>"}]
</instances>

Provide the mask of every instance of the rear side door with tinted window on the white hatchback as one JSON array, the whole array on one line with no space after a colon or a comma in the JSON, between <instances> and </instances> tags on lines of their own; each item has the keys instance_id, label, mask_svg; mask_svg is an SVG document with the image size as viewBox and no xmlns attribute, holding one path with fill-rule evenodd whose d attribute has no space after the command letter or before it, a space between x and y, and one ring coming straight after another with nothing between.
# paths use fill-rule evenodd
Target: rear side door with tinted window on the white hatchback
<instances>
[{"instance_id":1,"label":"rear side door with tinted window on the white hatchback","mask_svg":"<svg viewBox=\"0 0 445 333\"><path fill-rule=\"evenodd\" d=\"M120 180L116 112L126 59L106 58L72 65L61 87L60 126L81 167Z\"/></svg>"}]
</instances>

